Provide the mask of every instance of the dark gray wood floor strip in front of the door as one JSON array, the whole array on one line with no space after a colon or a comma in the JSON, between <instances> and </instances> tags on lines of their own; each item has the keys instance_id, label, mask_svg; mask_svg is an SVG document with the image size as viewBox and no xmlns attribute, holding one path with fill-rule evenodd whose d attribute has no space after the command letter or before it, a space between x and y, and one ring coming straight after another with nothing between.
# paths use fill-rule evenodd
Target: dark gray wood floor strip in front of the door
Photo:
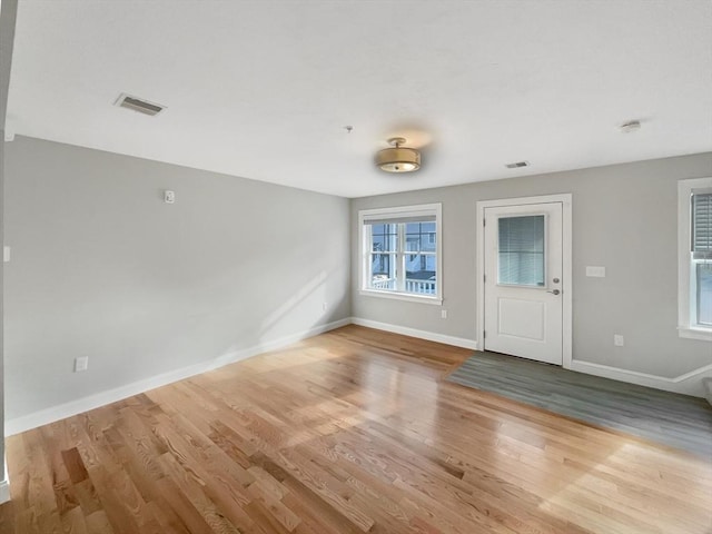
<instances>
[{"instance_id":1,"label":"dark gray wood floor strip in front of the door","mask_svg":"<svg viewBox=\"0 0 712 534\"><path fill-rule=\"evenodd\" d=\"M447 379L712 461L712 406L703 398L496 353L475 353Z\"/></svg>"}]
</instances>

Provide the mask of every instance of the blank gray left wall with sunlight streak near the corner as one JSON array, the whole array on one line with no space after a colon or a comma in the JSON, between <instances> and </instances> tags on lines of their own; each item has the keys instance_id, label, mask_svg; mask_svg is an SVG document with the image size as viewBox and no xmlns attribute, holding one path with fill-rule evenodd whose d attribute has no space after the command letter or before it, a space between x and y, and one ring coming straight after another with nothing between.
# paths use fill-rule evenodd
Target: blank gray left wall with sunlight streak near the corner
<instances>
[{"instance_id":1,"label":"blank gray left wall with sunlight streak near the corner","mask_svg":"<svg viewBox=\"0 0 712 534\"><path fill-rule=\"evenodd\" d=\"M21 137L6 156L8 419L349 316L347 199Z\"/></svg>"}]
</instances>

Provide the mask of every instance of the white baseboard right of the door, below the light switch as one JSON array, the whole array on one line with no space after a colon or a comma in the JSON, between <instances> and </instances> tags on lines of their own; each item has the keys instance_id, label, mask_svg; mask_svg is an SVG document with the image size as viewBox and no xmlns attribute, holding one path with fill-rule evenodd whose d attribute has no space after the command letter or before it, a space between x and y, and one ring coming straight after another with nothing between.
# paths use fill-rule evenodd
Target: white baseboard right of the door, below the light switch
<instances>
[{"instance_id":1,"label":"white baseboard right of the door, below the light switch","mask_svg":"<svg viewBox=\"0 0 712 534\"><path fill-rule=\"evenodd\" d=\"M690 373L685 373L684 375L680 375L674 378L649 375L646 373L621 369L619 367L593 364L591 362L582 362L580 359L572 360L570 369L577 370L578 373L586 373L589 375L602 376L604 378L612 378L614 380L627 382L630 384L637 384L640 386L654 387L656 389L663 389L665 392L692 395L694 397L705 397L706 395L712 395L711 393L705 390L703 385L705 379L712 377L712 364L705 365L704 367L700 367L699 369L691 370Z\"/></svg>"}]
</instances>

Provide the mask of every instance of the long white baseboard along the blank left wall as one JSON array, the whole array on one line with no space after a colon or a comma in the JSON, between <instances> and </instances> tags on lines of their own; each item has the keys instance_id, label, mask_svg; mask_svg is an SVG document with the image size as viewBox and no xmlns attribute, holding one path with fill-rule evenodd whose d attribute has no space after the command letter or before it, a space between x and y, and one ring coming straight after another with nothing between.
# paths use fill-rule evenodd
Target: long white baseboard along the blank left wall
<instances>
[{"instance_id":1,"label":"long white baseboard along the blank left wall","mask_svg":"<svg viewBox=\"0 0 712 534\"><path fill-rule=\"evenodd\" d=\"M52 406L51 408L40 409L21 417L8 419L4 422L4 435L6 437L12 436L31 428L37 428L38 426L47 425L49 423L70 417L72 415L87 412L89 409L98 408L99 406L106 406L107 404L116 403L117 400L121 400L132 395L148 392L149 389L155 389L174 382L199 375L200 373L206 373L208 370L214 370L228 364L241 362L253 356L257 356L258 354L267 353L269 350L275 350L293 343L297 343L301 339L306 339L307 337L313 337L318 334L333 330L334 328L346 326L350 324L350 318L335 320L333 323L319 325L298 334L293 334L290 336L260 343L259 345L255 345L254 347L248 347L234 353L225 354L209 362L201 362L199 364L182 367L180 369L169 370L168 373L162 373L160 375L151 376L149 378L116 387L113 389L108 389L95 395L89 395L76 400L70 400L69 403Z\"/></svg>"}]
</instances>

